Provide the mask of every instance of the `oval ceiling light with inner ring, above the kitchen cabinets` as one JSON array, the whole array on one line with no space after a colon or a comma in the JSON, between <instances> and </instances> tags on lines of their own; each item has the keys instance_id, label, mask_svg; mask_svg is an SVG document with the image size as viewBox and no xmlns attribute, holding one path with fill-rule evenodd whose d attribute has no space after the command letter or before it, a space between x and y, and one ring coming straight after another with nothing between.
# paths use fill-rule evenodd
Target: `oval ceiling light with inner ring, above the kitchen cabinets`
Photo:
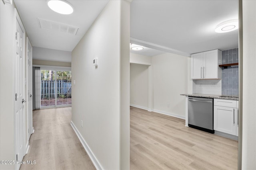
<instances>
[{"instance_id":1,"label":"oval ceiling light with inner ring, above the kitchen cabinets","mask_svg":"<svg viewBox=\"0 0 256 170\"><path fill-rule=\"evenodd\" d=\"M228 20L217 25L216 33L226 33L238 29L238 20Z\"/></svg>"}]
</instances>

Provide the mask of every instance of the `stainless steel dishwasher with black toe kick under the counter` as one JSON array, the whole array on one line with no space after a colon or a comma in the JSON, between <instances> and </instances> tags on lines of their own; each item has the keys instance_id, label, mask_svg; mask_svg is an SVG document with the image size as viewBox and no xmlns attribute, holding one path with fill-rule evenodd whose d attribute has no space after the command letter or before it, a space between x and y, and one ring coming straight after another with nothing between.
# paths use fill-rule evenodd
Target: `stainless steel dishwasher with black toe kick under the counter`
<instances>
[{"instance_id":1,"label":"stainless steel dishwasher with black toe kick under the counter","mask_svg":"<svg viewBox=\"0 0 256 170\"><path fill-rule=\"evenodd\" d=\"M214 133L213 98L188 97L188 126Z\"/></svg>"}]
</instances>

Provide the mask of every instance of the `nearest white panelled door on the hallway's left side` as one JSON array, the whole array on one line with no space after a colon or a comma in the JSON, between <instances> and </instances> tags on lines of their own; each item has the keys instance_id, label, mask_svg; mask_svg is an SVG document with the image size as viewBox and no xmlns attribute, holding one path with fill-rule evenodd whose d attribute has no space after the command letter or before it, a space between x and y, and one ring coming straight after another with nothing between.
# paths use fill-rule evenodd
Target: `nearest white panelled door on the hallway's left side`
<instances>
[{"instance_id":1,"label":"nearest white panelled door on the hallway's left side","mask_svg":"<svg viewBox=\"0 0 256 170\"><path fill-rule=\"evenodd\" d=\"M25 29L22 25L17 10L15 10L15 53L14 53L14 91L15 91L15 153L16 160L22 161L25 155ZM15 169L19 169L16 164Z\"/></svg>"}]
</instances>

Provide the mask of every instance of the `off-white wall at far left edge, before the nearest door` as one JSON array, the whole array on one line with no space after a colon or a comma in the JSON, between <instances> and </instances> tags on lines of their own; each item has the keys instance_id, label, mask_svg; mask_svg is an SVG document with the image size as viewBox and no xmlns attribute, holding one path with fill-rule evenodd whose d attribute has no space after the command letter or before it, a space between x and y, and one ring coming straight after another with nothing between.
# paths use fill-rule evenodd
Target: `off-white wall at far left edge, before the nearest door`
<instances>
[{"instance_id":1,"label":"off-white wall at far left edge, before the nearest door","mask_svg":"<svg viewBox=\"0 0 256 170\"><path fill-rule=\"evenodd\" d=\"M0 160L14 158L14 6L0 1ZM0 169L14 165L0 164Z\"/></svg>"}]
</instances>

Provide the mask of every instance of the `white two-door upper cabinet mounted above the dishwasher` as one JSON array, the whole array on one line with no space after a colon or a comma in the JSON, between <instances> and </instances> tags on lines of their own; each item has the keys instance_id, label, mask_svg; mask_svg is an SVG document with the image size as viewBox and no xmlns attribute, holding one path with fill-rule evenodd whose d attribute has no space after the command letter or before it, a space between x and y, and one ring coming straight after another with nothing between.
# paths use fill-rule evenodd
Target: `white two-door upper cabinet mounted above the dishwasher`
<instances>
[{"instance_id":1,"label":"white two-door upper cabinet mounted above the dishwasher","mask_svg":"<svg viewBox=\"0 0 256 170\"><path fill-rule=\"evenodd\" d=\"M218 49L191 55L191 79L221 79L222 52Z\"/></svg>"}]
</instances>

